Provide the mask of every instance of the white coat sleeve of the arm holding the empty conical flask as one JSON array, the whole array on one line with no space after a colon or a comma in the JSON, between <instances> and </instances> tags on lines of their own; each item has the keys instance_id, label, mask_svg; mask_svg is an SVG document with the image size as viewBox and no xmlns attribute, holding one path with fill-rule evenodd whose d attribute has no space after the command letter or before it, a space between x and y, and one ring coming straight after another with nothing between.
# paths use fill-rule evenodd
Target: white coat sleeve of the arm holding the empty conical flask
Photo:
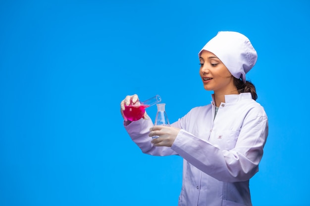
<instances>
[{"instance_id":1,"label":"white coat sleeve of the arm holding the empty conical flask","mask_svg":"<svg viewBox=\"0 0 310 206\"><path fill-rule=\"evenodd\" d=\"M258 172L267 135L267 117L252 116L244 120L236 146L231 150L221 150L184 129L180 130L171 149L219 181L246 181Z\"/></svg>"}]
</instances>

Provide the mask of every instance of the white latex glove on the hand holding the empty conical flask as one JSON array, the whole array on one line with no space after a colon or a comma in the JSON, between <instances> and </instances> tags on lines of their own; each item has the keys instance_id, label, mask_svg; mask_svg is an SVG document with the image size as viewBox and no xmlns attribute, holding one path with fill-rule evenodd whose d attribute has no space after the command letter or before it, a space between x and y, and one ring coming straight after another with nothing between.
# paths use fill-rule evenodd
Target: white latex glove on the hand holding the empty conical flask
<instances>
[{"instance_id":1,"label":"white latex glove on the hand holding the empty conical flask","mask_svg":"<svg viewBox=\"0 0 310 206\"><path fill-rule=\"evenodd\" d=\"M151 141L154 146L171 147L181 129L171 126L153 126L150 128L149 136L159 136Z\"/></svg>"}]
</instances>

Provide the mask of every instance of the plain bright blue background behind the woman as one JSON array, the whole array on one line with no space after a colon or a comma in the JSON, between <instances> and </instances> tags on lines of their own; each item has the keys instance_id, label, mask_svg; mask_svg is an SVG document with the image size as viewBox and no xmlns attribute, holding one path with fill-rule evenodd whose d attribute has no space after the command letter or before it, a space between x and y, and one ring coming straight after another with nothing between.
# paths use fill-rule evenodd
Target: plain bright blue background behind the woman
<instances>
[{"instance_id":1,"label":"plain bright blue background behind the woman","mask_svg":"<svg viewBox=\"0 0 310 206\"><path fill-rule=\"evenodd\" d=\"M309 11L306 0L1 0L0 206L176 206L182 158L142 154L119 104L159 94L170 122L208 104L197 54L218 31L258 51L247 80L270 130L254 206L309 206Z\"/></svg>"}]
</instances>

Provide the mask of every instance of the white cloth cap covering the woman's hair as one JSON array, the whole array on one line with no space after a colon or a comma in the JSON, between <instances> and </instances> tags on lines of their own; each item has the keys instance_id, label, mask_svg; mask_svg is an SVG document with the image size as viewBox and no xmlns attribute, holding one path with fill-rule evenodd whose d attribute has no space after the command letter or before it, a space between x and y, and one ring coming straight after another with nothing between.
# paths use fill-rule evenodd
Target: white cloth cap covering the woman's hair
<instances>
[{"instance_id":1,"label":"white cloth cap covering the woman's hair","mask_svg":"<svg viewBox=\"0 0 310 206\"><path fill-rule=\"evenodd\" d=\"M246 74L257 61L257 52L250 40L238 32L218 32L203 49L217 56L237 79L246 82Z\"/></svg>"}]
</instances>

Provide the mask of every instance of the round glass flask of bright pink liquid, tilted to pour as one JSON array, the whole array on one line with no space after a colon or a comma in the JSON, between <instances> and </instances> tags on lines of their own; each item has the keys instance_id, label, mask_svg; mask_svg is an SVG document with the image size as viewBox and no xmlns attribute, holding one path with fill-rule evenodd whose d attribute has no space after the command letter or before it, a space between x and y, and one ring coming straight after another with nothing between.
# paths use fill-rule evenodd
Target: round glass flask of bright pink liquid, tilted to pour
<instances>
[{"instance_id":1,"label":"round glass flask of bright pink liquid, tilted to pour","mask_svg":"<svg viewBox=\"0 0 310 206\"><path fill-rule=\"evenodd\" d=\"M143 102L140 102L139 100L134 104L130 102L128 106L125 105L125 110L123 111L124 116L130 121L140 120L143 117L146 108L151 107L160 101L161 97L157 94Z\"/></svg>"}]
</instances>

